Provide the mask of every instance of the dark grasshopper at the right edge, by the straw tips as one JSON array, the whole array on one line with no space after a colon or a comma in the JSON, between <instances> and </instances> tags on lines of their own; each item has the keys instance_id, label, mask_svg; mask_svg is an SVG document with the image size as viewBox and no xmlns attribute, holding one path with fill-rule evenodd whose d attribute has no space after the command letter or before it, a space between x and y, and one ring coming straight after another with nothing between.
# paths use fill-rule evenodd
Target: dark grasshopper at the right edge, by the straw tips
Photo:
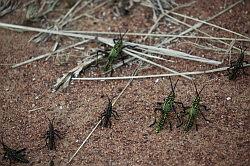
<instances>
[{"instance_id":1,"label":"dark grasshopper at the right edge, by the straw tips","mask_svg":"<svg viewBox=\"0 0 250 166\"><path fill-rule=\"evenodd\" d=\"M232 61L230 63L230 67L227 68L229 80L235 80L238 77L238 73L240 72L240 70L243 71L243 74L247 75L243 66L243 63L248 64L248 62L244 60L245 57L244 52L246 51L246 49L247 48L243 50L241 48L240 56L238 57L238 59L236 61Z\"/></svg>"}]
</instances>

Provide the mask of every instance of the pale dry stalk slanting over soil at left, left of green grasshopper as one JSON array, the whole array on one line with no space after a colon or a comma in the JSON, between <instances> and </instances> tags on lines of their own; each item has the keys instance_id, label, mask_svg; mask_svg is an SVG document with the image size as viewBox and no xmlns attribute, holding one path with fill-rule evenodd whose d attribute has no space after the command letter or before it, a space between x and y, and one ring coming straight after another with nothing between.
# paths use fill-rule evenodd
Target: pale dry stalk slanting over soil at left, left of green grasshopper
<instances>
[{"instance_id":1,"label":"pale dry stalk slanting over soil at left, left of green grasshopper","mask_svg":"<svg viewBox=\"0 0 250 166\"><path fill-rule=\"evenodd\" d=\"M16 68L16 67L19 67L19 66L22 66L22 65L25 65L25 64L28 64L28 63L31 63L31 62L34 62L34 61L37 61L37 60L40 60L40 59L44 59L48 56L51 56L53 54L56 54L56 53L59 53L59 52L62 52L62 51L65 51L69 48L72 48L72 47L75 47L75 46L78 46L78 45L81 45L81 44L84 44L86 42L88 42L89 40L84 40L84 41L81 41L81 42L78 42L78 43L75 43L75 44L72 44L72 45L69 45L69 46L66 46L64 48L61 48L61 49L58 49L54 52L50 52L50 53L46 53L46 54L43 54L43 55L40 55L40 56L37 56L35 58L31 58L29 60L26 60L26 61L23 61L21 63L18 63L18 64L15 64L12 66L12 68Z\"/></svg>"}]
</instances>

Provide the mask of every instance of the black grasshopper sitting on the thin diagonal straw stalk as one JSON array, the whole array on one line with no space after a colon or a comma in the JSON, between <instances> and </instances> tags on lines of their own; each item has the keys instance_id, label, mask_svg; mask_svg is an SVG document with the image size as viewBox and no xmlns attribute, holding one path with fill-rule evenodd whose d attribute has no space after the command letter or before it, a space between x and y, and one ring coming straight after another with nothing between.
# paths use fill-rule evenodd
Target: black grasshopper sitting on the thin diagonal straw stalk
<instances>
[{"instance_id":1,"label":"black grasshopper sitting on the thin diagonal straw stalk","mask_svg":"<svg viewBox=\"0 0 250 166\"><path fill-rule=\"evenodd\" d=\"M112 101L108 97L108 105L107 105L106 109L104 110L104 112L101 114L101 117L100 117L101 123L100 123L100 125L102 127L111 128L111 125L112 125L111 117L112 116L114 116L114 118L117 120L118 113L115 110L113 110Z\"/></svg>"}]
</instances>

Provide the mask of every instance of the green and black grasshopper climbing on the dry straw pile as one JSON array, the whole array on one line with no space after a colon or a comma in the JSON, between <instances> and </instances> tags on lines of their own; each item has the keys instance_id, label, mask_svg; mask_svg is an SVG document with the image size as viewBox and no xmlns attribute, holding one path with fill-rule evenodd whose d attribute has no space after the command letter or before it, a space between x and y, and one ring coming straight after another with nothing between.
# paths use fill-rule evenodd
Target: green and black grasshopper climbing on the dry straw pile
<instances>
[{"instance_id":1,"label":"green and black grasshopper climbing on the dry straw pile","mask_svg":"<svg viewBox=\"0 0 250 166\"><path fill-rule=\"evenodd\" d=\"M114 72L113 69L113 63L121 56L122 57L122 61L124 63L124 57L122 56L122 50L126 47L133 47L133 46L129 46L129 45L124 45L123 44L123 37L125 36L125 34L127 33L128 30L126 30L126 32L121 35L120 33L120 37L119 39L113 39L114 42L114 47L111 50L98 50L97 51L97 63L98 63L98 55L104 54L107 57L107 63L105 64L105 66L103 67L104 72L109 72L111 71L111 76Z\"/></svg>"}]
</instances>

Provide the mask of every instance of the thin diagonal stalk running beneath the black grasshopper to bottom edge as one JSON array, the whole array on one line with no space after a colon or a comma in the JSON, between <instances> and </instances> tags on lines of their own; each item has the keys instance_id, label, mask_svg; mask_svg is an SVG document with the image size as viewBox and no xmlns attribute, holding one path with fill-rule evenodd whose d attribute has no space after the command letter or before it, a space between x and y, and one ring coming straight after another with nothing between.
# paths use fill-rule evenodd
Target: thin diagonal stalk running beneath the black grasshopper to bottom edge
<instances>
[{"instance_id":1,"label":"thin diagonal stalk running beneath the black grasshopper to bottom edge","mask_svg":"<svg viewBox=\"0 0 250 166\"><path fill-rule=\"evenodd\" d=\"M132 76L136 75L138 69L140 68L140 66L133 72ZM133 81L133 78L131 78L129 80L129 82L126 84L126 86L123 88L123 90L121 91L121 93L117 96L117 98L113 101L112 106L115 105L115 103L117 102L117 100L121 97L121 95L124 93L124 91L127 89L127 87L131 84L131 82ZM97 124L95 125L95 127L92 129L92 131L89 133L89 135L86 137L86 139L82 142L82 144L79 146L79 148L76 150L76 152L73 154L73 156L69 159L69 161L67 162L67 164L69 164L73 158L77 155L77 153L80 151L80 149L83 147L83 145L88 141L89 137L93 134L93 132L96 130L96 128L99 126L99 124L101 123L102 119L99 120L97 122Z\"/></svg>"}]
</instances>

